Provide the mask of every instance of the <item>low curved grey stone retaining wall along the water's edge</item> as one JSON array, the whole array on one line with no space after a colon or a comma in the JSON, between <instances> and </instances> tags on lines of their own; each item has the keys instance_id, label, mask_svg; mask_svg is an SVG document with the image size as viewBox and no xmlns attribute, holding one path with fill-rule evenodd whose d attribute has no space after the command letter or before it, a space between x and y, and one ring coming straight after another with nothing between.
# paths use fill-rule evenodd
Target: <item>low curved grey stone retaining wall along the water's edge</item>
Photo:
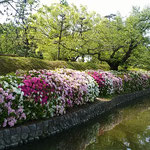
<instances>
[{"instance_id":1,"label":"low curved grey stone retaining wall along the water's edge","mask_svg":"<svg viewBox=\"0 0 150 150\"><path fill-rule=\"evenodd\" d=\"M46 121L21 125L0 130L0 150L9 149L24 143L45 138L75 125L84 123L96 116L109 111L123 103L131 102L139 97L150 95L150 89L118 96L111 101L95 101L93 104L81 107L63 116L54 117Z\"/></svg>"}]
</instances>

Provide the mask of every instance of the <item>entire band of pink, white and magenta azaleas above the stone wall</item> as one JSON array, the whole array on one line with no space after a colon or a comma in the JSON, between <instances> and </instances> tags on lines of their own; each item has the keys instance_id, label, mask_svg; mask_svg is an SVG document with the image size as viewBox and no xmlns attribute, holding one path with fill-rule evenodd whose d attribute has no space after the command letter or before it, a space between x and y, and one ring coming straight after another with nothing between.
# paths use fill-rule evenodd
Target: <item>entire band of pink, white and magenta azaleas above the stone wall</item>
<instances>
[{"instance_id":1,"label":"entire band of pink, white and magenta azaleas above the stone wall","mask_svg":"<svg viewBox=\"0 0 150 150\"><path fill-rule=\"evenodd\" d=\"M17 71L14 75L0 76L0 127L62 115L67 108L93 102L98 96L149 87L149 73Z\"/></svg>"}]
</instances>

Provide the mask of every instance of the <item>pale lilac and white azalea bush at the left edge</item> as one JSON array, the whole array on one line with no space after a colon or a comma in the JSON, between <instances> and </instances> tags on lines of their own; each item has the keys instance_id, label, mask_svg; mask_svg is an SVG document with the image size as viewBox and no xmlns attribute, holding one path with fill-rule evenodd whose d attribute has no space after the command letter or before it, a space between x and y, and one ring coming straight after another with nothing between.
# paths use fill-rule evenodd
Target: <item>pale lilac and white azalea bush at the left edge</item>
<instances>
[{"instance_id":1,"label":"pale lilac and white azalea bush at the left edge","mask_svg":"<svg viewBox=\"0 0 150 150\"><path fill-rule=\"evenodd\" d=\"M0 77L0 127L12 127L26 119L20 83L16 76Z\"/></svg>"}]
</instances>

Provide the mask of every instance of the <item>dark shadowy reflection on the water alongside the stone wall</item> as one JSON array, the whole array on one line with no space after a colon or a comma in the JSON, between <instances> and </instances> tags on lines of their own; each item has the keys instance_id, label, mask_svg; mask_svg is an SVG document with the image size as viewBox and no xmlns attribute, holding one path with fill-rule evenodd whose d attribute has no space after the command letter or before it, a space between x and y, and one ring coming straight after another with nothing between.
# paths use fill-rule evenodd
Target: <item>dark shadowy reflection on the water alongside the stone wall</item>
<instances>
[{"instance_id":1,"label":"dark shadowy reflection on the water alongside the stone wall","mask_svg":"<svg viewBox=\"0 0 150 150\"><path fill-rule=\"evenodd\" d=\"M15 150L84 150L96 141L99 124L82 125L64 133L18 147Z\"/></svg>"}]
</instances>

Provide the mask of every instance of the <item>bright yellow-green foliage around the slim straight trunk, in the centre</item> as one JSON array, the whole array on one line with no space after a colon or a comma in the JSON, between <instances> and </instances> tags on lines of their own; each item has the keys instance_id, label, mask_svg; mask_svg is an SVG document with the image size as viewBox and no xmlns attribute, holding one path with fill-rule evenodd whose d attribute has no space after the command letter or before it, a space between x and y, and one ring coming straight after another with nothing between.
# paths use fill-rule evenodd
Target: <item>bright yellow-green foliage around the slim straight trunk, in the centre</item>
<instances>
[{"instance_id":1,"label":"bright yellow-green foliage around the slim straight trunk, in the centre","mask_svg":"<svg viewBox=\"0 0 150 150\"><path fill-rule=\"evenodd\" d=\"M56 11L57 10L57 11ZM39 9L32 17L38 51L49 53L53 60L76 61L93 48L92 27L100 20L96 13L74 5L53 4Z\"/></svg>"}]
</instances>

